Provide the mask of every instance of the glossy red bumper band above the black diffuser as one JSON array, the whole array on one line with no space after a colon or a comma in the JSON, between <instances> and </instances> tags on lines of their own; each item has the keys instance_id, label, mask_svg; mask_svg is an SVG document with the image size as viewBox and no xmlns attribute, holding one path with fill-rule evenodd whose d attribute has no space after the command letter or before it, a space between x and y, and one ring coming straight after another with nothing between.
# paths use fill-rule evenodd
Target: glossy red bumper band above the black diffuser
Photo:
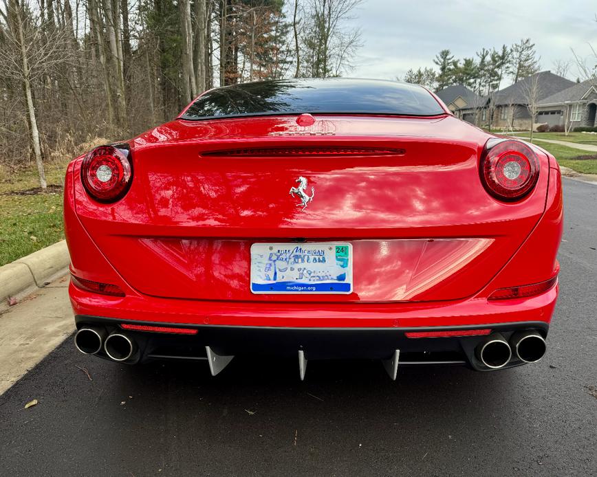
<instances>
[{"instance_id":1,"label":"glossy red bumper band above the black diffuser","mask_svg":"<svg viewBox=\"0 0 597 477\"><path fill-rule=\"evenodd\" d=\"M112 297L69 287L75 315L180 325L272 328L381 328L549 323L558 285L530 298L451 302L313 303L177 300L145 295Z\"/></svg>"}]
</instances>

